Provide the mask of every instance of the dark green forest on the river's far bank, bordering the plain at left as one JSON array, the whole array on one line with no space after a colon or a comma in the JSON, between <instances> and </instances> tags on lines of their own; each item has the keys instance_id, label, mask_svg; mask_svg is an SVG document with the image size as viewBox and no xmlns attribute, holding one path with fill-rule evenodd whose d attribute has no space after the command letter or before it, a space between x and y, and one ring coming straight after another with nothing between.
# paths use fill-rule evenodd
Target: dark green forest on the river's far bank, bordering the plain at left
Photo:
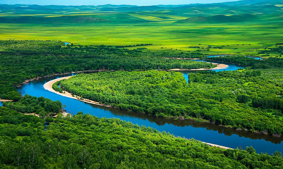
<instances>
[{"instance_id":1,"label":"dark green forest on the river's far bank, bordering the plain at left","mask_svg":"<svg viewBox=\"0 0 283 169\"><path fill-rule=\"evenodd\" d=\"M85 70L169 70L213 67L211 63L165 59L105 45L62 46L61 41L0 41L0 98L19 100L15 86L26 79Z\"/></svg>"}]
</instances>

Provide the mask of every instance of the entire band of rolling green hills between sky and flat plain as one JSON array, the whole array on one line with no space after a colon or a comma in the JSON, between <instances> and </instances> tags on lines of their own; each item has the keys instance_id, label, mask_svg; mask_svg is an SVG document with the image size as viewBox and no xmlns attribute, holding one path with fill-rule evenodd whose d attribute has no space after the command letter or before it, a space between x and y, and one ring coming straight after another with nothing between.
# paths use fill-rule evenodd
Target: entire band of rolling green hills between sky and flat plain
<instances>
[{"instance_id":1,"label":"entire band of rolling green hills between sky and flat plain","mask_svg":"<svg viewBox=\"0 0 283 169\"><path fill-rule=\"evenodd\" d=\"M278 19L282 20L282 17L276 17L283 13L282 4L283 0L243 0L223 3L157 6L112 4L99 6L41 6L0 4L2 14L0 15L0 23L69 24L111 21L116 23L160 21L177 21L177 23L230 23L253 21L253 19L275 20L275 18L278 21ZM53 17L56 15L64 16ZM268 17L269 15L272 15L272 18ZM275 16L273 17L273 15ZM29 17L21 18L19 16Z\"/></svg>"}]
</instances>

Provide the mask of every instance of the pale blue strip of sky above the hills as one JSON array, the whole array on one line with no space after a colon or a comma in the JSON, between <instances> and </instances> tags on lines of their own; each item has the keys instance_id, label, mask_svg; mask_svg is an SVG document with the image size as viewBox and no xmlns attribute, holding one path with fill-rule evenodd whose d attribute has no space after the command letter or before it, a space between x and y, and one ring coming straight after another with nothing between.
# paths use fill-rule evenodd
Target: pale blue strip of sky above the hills
<instances>
[{"instance_id":1,"label":"pale blue strip of sky above the hills","mask_svg":"<svg viewBox=\"0 0 283 169\"><path fill-rule=\"evenodd\" d=\"M0 4L38 4L38 5L104 5L104 4L127 4L138 6L149 5L177 5L190 3L216 3L237 0L0 0Z\"/></svg>"}]
</instances>

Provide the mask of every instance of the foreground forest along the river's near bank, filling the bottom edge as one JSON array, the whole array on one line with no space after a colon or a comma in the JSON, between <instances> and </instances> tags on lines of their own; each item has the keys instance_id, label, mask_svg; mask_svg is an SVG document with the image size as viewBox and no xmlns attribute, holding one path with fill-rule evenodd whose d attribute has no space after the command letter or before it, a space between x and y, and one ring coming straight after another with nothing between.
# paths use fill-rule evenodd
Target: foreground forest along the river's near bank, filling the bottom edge
<instances>
[{"instance_id":1,"label":"foreground forest along the river's near bank, filling the bottom edge","mask_svg":"<svg viewBox=\"0 0 283 169\"><path fill-rule=\"evenodd\" d=\"M1 168L281 168L282 154L223 150L194 139L78 112L23 115L0 107Z\"/></svg>"}]
</instances>

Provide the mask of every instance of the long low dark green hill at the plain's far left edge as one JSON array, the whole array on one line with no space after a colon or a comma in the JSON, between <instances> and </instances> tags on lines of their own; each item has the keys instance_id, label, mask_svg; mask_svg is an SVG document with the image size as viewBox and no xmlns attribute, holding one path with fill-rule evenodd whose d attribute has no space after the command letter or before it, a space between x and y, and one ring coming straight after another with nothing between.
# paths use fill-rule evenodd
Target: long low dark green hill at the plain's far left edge
<instances>
[{"instance_id":1,"label":"long low dark green hill at the plain's far left edge","mask_svg":"<svg viewBox=\"0 0 283 169\"><path fill-rule=\"evenodd\" d=\"M61 17L0 17L0 23L25 23L25 24L60 24L60 23L97 23L112 22L109 19L98 17L88 17L83 15L77 16L61 16Z\"/></svg>"}]
</instances>

